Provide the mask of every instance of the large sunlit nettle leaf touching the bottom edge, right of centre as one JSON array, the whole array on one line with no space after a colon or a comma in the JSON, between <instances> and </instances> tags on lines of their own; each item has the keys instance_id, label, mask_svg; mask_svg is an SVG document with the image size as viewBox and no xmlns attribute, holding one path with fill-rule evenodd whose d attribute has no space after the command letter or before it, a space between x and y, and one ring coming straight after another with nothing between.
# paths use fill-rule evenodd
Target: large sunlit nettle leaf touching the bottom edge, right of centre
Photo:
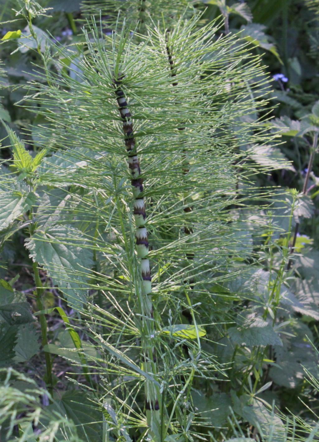
<instances>
[{"instance_id":1,"label":"large sunlit nettle leaf touching the bottom edge, right of centre","mask_svg":"<svg viewBox=\"0 0 319 442\"><path fill-rule=\"evenodd\" d=\"M237 397L234 390L231 390L234 412L250 425L261 430L261 435L265 438L272 436L273 442L284 442L285 426L282 420L273 412L269 411L265 405L257 399L251 401L250 396L244 394Z\"/></svg>"}]
</instances>

